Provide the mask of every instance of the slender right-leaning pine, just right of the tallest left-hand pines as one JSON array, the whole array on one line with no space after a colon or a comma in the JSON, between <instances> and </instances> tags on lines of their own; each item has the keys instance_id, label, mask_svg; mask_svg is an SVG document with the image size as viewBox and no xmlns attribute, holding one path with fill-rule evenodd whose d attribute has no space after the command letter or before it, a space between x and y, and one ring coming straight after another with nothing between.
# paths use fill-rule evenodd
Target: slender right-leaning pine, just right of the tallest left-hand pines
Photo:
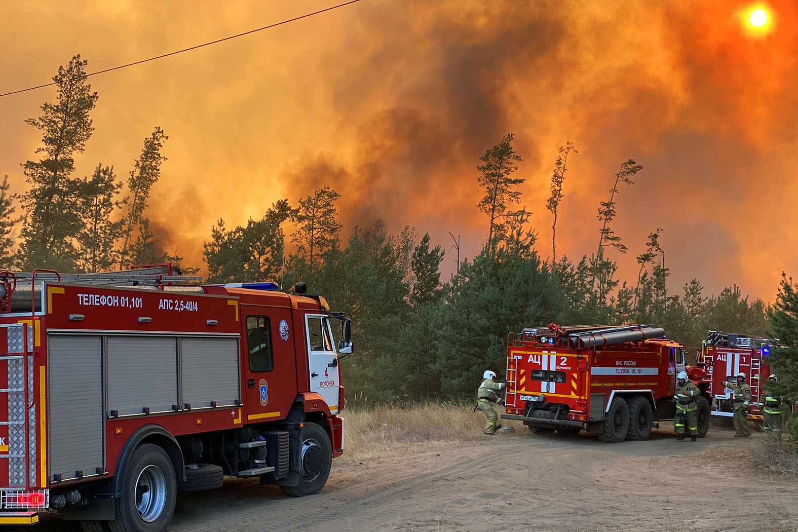
<instances>
[{"instance_id":1,"label":"slender right-leaning pine, just right of the tallest left-hand pines","mask_svg":"<svg viewBox=\"0 0 798 532\"><path fill-rule=\"evenodd\" d=\"M144 210L147 208L150 191L160 178L160 165L166 160L166 157L161 155L160 151L164 148L164 142L168 138L163 129L156 127L152 134L144 139L144 148L141 150L141 155L133 163L130 171L128 191L130 191L131 197L128 203L128 217L124 227L124 241L120 251L120 270L128 266L130 262L143 264L143 262L128 259L128 255L133 253L132 250L128 250L128 244L133 227L143 223ZM140 229L139 237L141 238L147 231Z\"/></svg>"}]
</instances>

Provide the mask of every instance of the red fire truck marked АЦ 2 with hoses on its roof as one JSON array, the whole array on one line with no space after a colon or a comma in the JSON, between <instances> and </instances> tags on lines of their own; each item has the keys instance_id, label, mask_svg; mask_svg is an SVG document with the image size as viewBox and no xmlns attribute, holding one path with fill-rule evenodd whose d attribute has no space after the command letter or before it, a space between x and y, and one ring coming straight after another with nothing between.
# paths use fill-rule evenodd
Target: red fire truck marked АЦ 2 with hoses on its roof
<instances>
[{"instance_id":1,"label":"red fire truck marked \u0410\u0426 2 with hoses on its roof","mask_svg":"<svg viewBox=\"0 0 798 532\"><path fill-rule=\"evenodd\" d=\"M596 432L617 443L648 439L675 415L678 372L702 391L696 400L700 436L709 430L701 368L685 365L685 348L649 325L575 325L523 329L508 335L507 412L533 432Z\"/></svg>"}]
</instances>

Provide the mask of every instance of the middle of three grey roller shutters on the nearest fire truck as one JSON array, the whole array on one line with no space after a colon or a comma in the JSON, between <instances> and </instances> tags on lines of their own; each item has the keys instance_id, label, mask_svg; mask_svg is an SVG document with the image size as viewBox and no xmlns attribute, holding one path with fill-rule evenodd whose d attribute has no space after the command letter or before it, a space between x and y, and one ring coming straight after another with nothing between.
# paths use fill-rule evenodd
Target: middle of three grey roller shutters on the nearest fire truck
<instances>
[{"instance_id":1,"label":"middle of three grey roller shutters on the nearest fire truck","mask_svg":"<svg viewBox=\"0 0 798 532\"><path fill-rule=\"evenodd\" d=\"M176 337L108 337L108 408L120 416L177 404Z\"/></svg>"}]
</instances>

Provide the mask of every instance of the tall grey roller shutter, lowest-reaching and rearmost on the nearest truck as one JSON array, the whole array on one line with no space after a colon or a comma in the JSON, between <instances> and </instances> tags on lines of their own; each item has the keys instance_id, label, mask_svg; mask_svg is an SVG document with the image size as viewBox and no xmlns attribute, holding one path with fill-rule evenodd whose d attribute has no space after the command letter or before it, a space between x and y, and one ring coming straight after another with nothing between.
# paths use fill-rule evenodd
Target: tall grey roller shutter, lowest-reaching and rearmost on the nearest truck
<instances>
[{"instance_id":1,"label":"tall grey roller shutter, lowest-reaching and rearmost on the nearest truck","mask_svg":"<svg viewBox=\"0 0 798 532\"><path fill-rule=\"evenodd\" d=\"M48 478L103 467L102 337L50 335Z\"/></svg>"}]
</instances>

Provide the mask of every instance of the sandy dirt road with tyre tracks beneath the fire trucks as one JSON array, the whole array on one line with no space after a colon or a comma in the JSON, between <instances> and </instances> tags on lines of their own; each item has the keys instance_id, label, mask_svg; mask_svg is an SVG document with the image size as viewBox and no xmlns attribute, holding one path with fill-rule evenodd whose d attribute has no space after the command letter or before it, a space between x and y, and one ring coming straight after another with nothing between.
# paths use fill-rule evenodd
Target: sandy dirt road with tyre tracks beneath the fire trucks
<instances>
[{"instance_id":1,"label":"sandy dirt road with tyre tracks beneath the fire trucks","mask_svg":"<svg viewBox=\"0 0 798 532\"><path fill-rule=\"evenodd\" d=\"M756 440L713 429L697 443L662 430L646 442L614 445L589 435L523 434L424 444L362 465L340 463L322 493L306 499L227 479L220 490L180 495L169 530L796 530L798 483L750 467L738 472ZM49 520L39 530L79 528Z\"/></svg>"}]
</instances>

